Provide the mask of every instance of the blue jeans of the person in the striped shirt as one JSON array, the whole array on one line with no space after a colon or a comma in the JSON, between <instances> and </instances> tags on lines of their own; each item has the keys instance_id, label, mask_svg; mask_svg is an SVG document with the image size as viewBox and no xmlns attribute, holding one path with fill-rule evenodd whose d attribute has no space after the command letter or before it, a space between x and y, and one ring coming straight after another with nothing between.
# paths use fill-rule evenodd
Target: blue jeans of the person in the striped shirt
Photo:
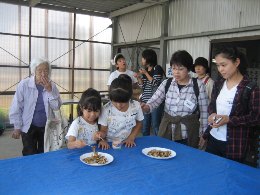
<instances>
[{"instance_id":1,"label":"blue jeans of the person in the striped shirt","mask_svg":"<svg viewBox=\"0 0 260 195\"><path fill-rule=\"evenodd\" d=\"M150 129L152 127L153 134L157 135L159 131L159 126L162 119L164 104L161 104L158 108L154 109L151 113L144 113L144 120L142 126L143 136L150 135Z\"/></svg>"}]
</instances>

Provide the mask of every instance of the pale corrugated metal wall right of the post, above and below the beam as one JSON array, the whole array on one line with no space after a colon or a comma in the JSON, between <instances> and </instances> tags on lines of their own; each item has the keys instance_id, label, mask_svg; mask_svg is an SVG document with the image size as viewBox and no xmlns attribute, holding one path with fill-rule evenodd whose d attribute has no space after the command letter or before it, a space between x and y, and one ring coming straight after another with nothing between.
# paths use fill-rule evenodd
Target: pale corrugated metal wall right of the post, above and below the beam
<instances>
[{"instance_id":1,"label":"pale corrugated metal wall right of the post, above and below the beam","mask_svg":"<svg viewBox=\"0 0 260 195\"><path fill-rule=\"evenodd\" d=\"M176 0L169 5L169 36L191 35L209 31L260 25L259 0ZM209 58L213 39L259 35L259 31L238 32L168 42L167 61L177 50L185 49L195 58Z\"/></svg>"}]
</instances>

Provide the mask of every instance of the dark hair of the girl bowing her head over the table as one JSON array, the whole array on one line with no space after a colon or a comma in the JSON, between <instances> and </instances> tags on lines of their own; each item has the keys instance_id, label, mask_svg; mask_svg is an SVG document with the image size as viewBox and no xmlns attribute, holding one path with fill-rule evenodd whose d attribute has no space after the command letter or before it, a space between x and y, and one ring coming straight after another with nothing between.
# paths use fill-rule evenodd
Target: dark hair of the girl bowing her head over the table
<instances>
[{"instance_id":1,"label":"dark hair of the girl bowing her head over the table","mask_svg":"<svg viewBox=\"0 0 260 195\"><path fill-rule=\"evenodd\" d=\"M133 95L132 82L124 77L114 79L109 87L111 101L126 103Z\"/></svg>"}]
</instances>

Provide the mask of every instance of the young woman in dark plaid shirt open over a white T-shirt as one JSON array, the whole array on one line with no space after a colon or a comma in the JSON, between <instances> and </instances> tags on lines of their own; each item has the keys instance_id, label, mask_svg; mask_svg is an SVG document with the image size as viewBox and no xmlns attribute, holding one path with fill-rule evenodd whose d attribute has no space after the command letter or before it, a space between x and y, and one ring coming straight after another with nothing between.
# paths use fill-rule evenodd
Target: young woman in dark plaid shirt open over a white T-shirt
<instances>
[{"instance_id":1,"label":"young woman in dark plaid shirt open over a white T-shirt","mask_svg":"<svg viewBox=\"0 0 260 195\"><path fill-rule=\"evenodd\" d=\"M247 60L236 48L223 47L215 55L222 78L215 82L209 105L208 122L203 135L208 140L206 151L243 162L249 145L249 131L260 121L260 91L255 87L250 95L248 109L242 94L250 82L246 76Z\"/></svg>"}]
</instances>

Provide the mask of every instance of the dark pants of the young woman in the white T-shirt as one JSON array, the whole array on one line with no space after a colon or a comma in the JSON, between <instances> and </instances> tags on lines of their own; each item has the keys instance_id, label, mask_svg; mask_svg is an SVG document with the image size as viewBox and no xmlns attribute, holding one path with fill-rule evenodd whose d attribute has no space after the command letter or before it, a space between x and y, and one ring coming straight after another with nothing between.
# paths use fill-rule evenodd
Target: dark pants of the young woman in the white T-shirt
<instances>
[{"instance_id":1,"label":"dark pants of the young woman in the white T-shirt","mask_svg":"<svg viewBox=\"0 0 260 195\"><path fill-rule=\"evenodd\" d=\"M205 150L206 152L221 157L226 157L226 150L227 150L226 147L227 147L227 143L225 141L217 140L212 135L209 134L209 140Z\"/></svg>"}]
</instances>

